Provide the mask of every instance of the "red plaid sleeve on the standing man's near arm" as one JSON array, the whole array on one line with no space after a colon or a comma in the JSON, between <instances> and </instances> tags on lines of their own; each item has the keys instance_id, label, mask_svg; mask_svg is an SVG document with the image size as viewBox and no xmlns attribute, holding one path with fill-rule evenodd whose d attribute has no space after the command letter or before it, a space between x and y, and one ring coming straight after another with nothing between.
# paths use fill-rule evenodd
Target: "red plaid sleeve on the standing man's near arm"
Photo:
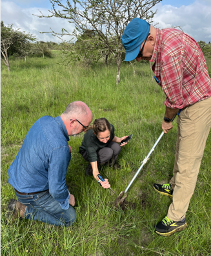
<instances>
[{"instance_id":1,"label":"red plaid sleeve on the standing man's near arm","mask_svg":"<svg viewBox=\"0 0 211 256\"><path fill-rule=\"evenodd\" d=\"M171 109L183 109L183 65L175 56L162 59L161 87L166 94L165 106Z\"/></svg>"}]
</instances>

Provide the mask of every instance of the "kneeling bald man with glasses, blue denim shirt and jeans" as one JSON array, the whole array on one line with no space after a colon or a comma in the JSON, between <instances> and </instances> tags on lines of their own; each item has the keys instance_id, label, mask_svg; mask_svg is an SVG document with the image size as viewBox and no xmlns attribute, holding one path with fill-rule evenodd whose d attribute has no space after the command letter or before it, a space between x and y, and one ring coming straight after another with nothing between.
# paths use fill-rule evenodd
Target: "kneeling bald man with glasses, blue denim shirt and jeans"
<instances>
[{"instance_id":1,"label":"kneeling bald man with glasses, blue denim shirt and jeans","mask_svg":"<svg viewBox=\"0 0 211 256\"><path fill-rule=\"evenodd\" d=\"M8 182L17 196L8 204L8 217L55 226L70 226L75 221L75 198L66 187L72 152L68 140L85 131L91 122L88 106L74 101L61 116L43 116L32 125L8 169Z\"/></svg>"}]
</instances>

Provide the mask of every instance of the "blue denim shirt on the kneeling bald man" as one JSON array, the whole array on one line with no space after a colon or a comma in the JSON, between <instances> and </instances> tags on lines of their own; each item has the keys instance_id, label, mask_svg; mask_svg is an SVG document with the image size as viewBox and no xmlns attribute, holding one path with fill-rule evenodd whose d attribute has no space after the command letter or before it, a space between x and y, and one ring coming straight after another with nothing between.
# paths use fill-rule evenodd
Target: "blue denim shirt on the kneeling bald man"
<instances>
[{"instance_id":1,"label":"blue denim shirt on the kneeling bald man","mask_svg":"<svg viewBox=\"0 0 211 256\"><path fill-rule=\"evenodd\" d=\"M61 208L68 209L70 193L66 187L66 170L71 159L68 140L60 116L43 116L37 120L8 169L8 182L22 193L49 189Z\"/></svg>"}]
</instances>

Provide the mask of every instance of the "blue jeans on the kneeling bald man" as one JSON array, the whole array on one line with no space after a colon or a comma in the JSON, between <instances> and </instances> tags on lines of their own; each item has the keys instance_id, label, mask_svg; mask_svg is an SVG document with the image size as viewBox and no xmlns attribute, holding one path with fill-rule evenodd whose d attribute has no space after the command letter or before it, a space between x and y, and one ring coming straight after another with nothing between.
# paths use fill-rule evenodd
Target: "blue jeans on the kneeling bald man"
<instances>
[{"instance_id":1,"label":"blue jeans on the kneeling bald man","mask_svg":"<svg viewBox=\"0 0 211 256\"><path fill-rule=\"evenodd\" d=\"M17 200L26 207L25 219L39 220L55 226L70 226L76 219L75 209L62 209L59 202L47 191L34 195L19 195L15 191Z\"/></svg>"}]
</instances>

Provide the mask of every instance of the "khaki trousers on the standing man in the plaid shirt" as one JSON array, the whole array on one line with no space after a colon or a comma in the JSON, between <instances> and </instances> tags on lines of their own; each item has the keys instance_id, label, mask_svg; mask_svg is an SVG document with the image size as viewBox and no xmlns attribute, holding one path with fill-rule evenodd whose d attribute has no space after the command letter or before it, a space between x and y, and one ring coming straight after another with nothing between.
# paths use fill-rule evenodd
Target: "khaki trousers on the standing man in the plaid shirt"
<instances>
[{"instance_id":1,"label":"khaki trousers on the standing man in the plaid shirt","mask_svg":"<svg viewBox=\"0 0 211 256\"><path fill-rule=\"evenodd\" d=\"M185 217L196 187L201 158L211 127L211 97L181 111L177 126L175 162L170 180L174 193L167 214L174 221Z\"/></svg>"}]
</instances>

